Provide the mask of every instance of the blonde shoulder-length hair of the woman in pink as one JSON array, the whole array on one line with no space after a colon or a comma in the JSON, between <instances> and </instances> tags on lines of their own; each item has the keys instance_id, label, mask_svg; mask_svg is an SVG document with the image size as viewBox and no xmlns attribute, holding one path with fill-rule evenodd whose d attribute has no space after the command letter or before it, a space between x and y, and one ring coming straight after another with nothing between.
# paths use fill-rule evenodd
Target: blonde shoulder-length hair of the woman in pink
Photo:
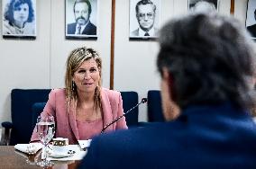
<instances>
[{"instance_id":1,"label":"blonde shoulder-length hair of the woman in pink","mask_svg":"<svg viewBox=\"0 0 256 169\"><path fill-rule=\"evenodd\" d=\"M71 100L77 101L78 100L78 92L77 92L77 85L73 82L74 73L78 70L78 67L86 61L93 58L96 61L96 65L99 70L100 80L96 87L95 92L95 108L101 107L101 96L100 96L100 88L101 88L101 70L102 70L102 59L99 57L98 53L95 49L81 47L78 49L73 49L70 54L69 58L67 59L67 69L66 69L66 76L65 76L65 86L66 86L66 99L67 104Z\"/></svg>"}]
</instances>

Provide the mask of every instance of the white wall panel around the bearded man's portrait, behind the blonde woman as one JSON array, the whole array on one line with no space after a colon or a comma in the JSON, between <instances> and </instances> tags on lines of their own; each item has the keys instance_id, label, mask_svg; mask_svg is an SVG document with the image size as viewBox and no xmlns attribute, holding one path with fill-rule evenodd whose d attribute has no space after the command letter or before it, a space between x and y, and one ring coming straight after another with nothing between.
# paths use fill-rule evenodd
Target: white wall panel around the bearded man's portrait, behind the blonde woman
<instances>
[{"instance_id":1,"label":"white wall panel around the bearded man's portrait, behind the blonde woman","mask_svg":"<svg viewBox=\"0 0 256 169\"><path fill-rule=\"evenodd\" d=\"M102 0L98 4L97 40L65 40L65 1L51 1L50 26L50 87L64 87L65 64L69 52L78 46L96 49L103 58L103 86L109 88L110 75L110 31L111 1ZM54 9L63 10L54 10Z\"/></svg>"}]
</instances>

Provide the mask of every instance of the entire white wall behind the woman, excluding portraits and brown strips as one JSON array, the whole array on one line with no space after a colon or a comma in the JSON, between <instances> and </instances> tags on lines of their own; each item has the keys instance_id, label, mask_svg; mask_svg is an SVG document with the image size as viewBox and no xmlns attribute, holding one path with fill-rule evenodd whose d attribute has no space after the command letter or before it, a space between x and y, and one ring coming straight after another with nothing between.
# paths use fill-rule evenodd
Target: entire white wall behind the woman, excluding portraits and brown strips
<instances>
[{"instance_id":1,"label":"entire white wall behind the woman, excluding portraits and brown strips","mask_svg":"<svg viewBox=\"0 0 256 169\"><path fill-rule=\"evenodd\" d=\"M246 2L235 0L234 16L242 22ZM64 0L37 0L36 40L0 37L0 122L11 120L13 88L63 87L66 58L71 49L81 45L93 47L101 54L103 85L109 88L111 0L98 0L98 3L97 40L65 40ZM155 67L158 45L155 41L129 40L129 0L116 0L115 10L114 89L136 91L141 99L148 90L160 89ZM221 0L220 13L229 14L229 11L230 0ZM160 25L183 13L187 13L187 0L161 0ZM146 105L140 107L139 118L147 120Z\"/></svg>"}]
</instances>

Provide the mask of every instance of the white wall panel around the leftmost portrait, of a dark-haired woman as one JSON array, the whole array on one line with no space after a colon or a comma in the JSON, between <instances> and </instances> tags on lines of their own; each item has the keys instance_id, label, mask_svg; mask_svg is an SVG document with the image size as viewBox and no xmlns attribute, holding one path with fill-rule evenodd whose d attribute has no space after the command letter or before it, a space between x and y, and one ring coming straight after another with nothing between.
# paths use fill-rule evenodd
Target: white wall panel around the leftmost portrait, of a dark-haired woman
<instances>
[{"instance_id":1,"label":"white wall panel around the leftmost portrait, of a dark-haired woman","mask_svg":"<svg viewBox=\"0 0 256 169\"><path fill-rule=\"evenodd\" d=\"M44 9L50 9L50 0L37 2L36 40L4 40L0 36L1 122L10 120L10 92L13 88L50 87L50 11ZM2 6L0 11L2 13Z\"/></svg>"}]
</instances>

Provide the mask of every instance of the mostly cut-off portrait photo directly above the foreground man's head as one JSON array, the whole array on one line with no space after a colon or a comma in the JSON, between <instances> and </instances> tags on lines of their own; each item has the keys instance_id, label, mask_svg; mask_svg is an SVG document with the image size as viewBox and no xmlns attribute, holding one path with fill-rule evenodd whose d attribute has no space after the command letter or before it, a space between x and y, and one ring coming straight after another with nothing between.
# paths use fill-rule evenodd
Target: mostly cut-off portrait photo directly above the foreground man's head
<instances>
[{"instance_id":1,"label":"mostly cut-off portrait photo directly above the foreground man's head","mask_svg":"<svg viewBox=\"0 0 256 169\"><path fill-rule=\"evenodd\" d=\"M188 10L199 13L218 11L219 0L188 0Z\"/></svg>"}]
</instances>

